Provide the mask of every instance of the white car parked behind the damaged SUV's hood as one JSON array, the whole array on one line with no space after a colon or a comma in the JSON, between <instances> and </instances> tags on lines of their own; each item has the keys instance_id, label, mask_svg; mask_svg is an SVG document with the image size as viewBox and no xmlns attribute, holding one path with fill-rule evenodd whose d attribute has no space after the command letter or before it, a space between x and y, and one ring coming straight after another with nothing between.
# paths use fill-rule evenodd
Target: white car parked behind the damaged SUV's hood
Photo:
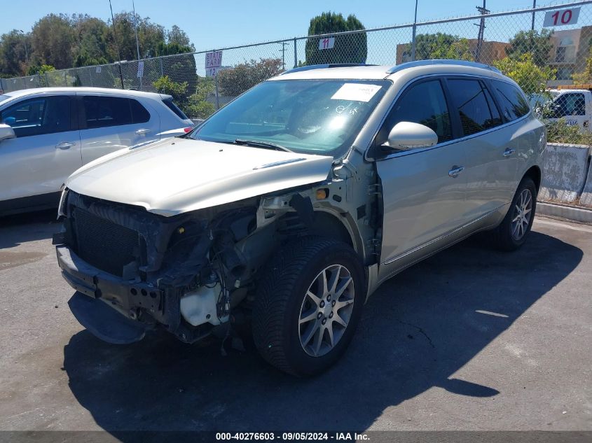
<instances>
[{"instance_id":1,"label":"white car parked behind the damaged SUV's hood","mask_svg":"<svg viewBox=\"0 0 592 443\"><path fill-rule=\"evenodd\" d=\"M0 215L56 207L66 178L121 148L189 132L165 94L44 87L0 95Z\"/></svg>"}]
</instances>

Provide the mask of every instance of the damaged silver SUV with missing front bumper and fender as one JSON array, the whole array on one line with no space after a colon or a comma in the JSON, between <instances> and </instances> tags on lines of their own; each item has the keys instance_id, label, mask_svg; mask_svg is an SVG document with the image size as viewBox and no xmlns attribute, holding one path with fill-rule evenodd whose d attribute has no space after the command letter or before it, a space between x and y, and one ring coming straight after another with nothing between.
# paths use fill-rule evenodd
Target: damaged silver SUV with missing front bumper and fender
<instances>
[{"instance_id":1,"label":"damaged silver SUV with missing front bumper and fender","mask_svg":"<svg viewBox=\"0 0 592 443\"><path fill-rule=\"evenodd\" d=\"M397 272L478 231L522 246L545 146L523 92L490 66L287 71L186 136L69 178L54 238L69 307L120 344L246 322L269 363L321 372Z\"/></svg>"}]
</instances>

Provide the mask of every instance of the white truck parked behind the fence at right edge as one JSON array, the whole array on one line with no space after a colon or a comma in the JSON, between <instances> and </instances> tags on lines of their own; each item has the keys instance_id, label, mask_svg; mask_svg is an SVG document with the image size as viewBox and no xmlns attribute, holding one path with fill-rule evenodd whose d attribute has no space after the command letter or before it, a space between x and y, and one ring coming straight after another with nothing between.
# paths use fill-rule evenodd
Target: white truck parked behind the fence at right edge
<instances>
[{"instance_id":1,"label":"white truck parked behind the fence at right edge","mask_svg":"<svg viewBox=\"0 0 592 443\"><path fill-rule=\"evenodd\" d=\"M551 103L545 106L548 111L544 111L543 116L549 120L563 118L567 125L577 125L582 130L589 131L592 120L591 91L592 84L562 85L550 90Z\"/></svg>"}]
</instances>

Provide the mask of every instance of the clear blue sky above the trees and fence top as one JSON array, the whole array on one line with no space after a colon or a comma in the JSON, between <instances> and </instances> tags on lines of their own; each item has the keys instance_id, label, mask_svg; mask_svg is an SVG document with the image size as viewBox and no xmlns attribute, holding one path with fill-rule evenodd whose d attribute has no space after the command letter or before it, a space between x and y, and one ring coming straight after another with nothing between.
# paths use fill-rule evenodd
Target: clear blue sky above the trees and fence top
<instances>
[{"instance_id":1,"label":"clear blue sky above the trees and fence top","mask_svg":"<svg viewBox=\"0 0 592 443\"><path fill-rule=\"evenodd\" d=\"M131 10L132 0L111 0L113 12ZM0 34L11 29L28 31L49 13L88 13L107 20L109 0L2 1ZM539 6L559 1L537 1ZM473 15L481 0L419 0L418 20ZM310 18L326 10L355 14L366 28L413 21L413 0L396 1L191 1L135 0L136 12L170 28L184 29L197 50L242 43L303 36ZM532 0L488 0L492 12L532 6ZM471 28L472 29L472 28Z\"/></svg>"}]
</instances>

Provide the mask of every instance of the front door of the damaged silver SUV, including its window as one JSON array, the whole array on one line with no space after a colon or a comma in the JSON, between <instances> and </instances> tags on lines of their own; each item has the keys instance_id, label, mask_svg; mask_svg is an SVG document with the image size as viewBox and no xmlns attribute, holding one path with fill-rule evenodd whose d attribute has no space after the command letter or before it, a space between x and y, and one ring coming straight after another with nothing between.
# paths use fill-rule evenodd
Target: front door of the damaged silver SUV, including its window
<instances>
[{"instance_id":1,"label":"front door of the damaged silver SUV, including its window","mask_svg":"<svg viewBox=\"0 0 592 443\"><path fill-rule=\"evenodd\" d=\"M381 261L387 265L383 273L398 258L433 243L465 220L464 148L454 140L449 105L439 78L418 80L404 90L376 136L377 148L401 121L430 127L438 135L438 143L432 148L377 158L383 186Z\"/></svg>"}]
</instances>

